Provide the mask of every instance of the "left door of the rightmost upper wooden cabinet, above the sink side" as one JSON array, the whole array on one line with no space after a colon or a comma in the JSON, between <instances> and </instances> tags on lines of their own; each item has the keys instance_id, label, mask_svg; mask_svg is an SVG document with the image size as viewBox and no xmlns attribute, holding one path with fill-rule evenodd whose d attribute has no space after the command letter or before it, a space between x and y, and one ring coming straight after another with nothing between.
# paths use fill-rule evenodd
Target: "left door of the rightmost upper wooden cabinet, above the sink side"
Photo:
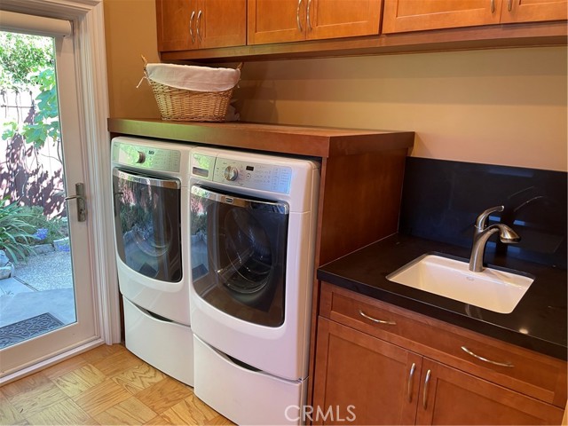
<instances>
[{"instance_id":1,"label":"left door of the rightmost upper wooden cabinet, above the sink side","mask_svg":"<svg viewBox=\"0 0 568 426\"><path fill-rule=\"evenodd\" d=\"M384 0L383 33L497 24L502 0Z\"/></svg>"}]
</instances>

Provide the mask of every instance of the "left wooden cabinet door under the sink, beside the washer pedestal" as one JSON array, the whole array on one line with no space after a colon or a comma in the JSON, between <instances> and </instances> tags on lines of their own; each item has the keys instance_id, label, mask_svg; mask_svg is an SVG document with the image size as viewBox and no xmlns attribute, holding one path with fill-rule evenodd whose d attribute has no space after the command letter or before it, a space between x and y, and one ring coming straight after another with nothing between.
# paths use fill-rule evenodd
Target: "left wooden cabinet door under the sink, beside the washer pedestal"
<instances>
[{"instance_id":1,"label":"left wooden cabinet door under the sink, beside the washer pedestal","mask_svg":"<svg viewBox=\"0 0 568 426\"><path fill-rule=\"evenodd\" d=\"M421 364L414 352L319 317L313 412L306 420L413 424Z\"/></svg>"}]
</instances>

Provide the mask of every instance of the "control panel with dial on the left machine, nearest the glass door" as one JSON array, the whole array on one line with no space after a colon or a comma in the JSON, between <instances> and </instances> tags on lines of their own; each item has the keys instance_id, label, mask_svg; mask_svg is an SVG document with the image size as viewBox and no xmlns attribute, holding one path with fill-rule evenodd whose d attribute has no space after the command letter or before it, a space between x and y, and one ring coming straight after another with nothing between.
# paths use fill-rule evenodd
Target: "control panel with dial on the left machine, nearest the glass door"
<instances>
[{"instance_id":1,"label":"control panel with dial on the left machine, nearest the glass door","mask_svg":"<svg viewBox=\"0 0 568 426\"><path fill-rule=\"evenodd\" d=\"M181 152L173 149L114 142L113 162L146 170L179 172Z\"/></svg>"}]
</instances>

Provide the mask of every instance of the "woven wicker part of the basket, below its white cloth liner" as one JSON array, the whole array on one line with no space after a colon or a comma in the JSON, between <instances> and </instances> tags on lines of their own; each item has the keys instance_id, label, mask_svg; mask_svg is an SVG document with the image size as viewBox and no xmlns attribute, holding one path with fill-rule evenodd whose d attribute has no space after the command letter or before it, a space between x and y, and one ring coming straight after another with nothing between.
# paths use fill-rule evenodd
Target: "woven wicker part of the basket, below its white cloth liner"
<instances>
[{"instance_id":1,"label":"woven wicker part of the basket, below its white cloth liner","mask_svg":"<svg viewBox=\"0 0 568 426\"><path fill-rule=\"evenodd\" d=\"M224 122L233 88L227 91L188 91L147 78L146 59L144 74L160 109L162 120L179 122ZM242 63L237 69L241 69Z\"/></svg>"}]
</instances>

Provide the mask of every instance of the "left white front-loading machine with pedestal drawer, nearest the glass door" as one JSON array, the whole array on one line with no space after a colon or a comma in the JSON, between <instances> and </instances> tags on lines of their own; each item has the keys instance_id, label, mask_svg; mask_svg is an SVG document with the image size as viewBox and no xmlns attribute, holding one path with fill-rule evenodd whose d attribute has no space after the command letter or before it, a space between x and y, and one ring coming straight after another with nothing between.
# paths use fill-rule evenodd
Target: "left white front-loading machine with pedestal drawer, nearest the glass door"
<instances>
[{"instance_id":1,"label":"left white front-loading machine with pedestal drawer, nearest the glass door","mask_svg":"<svg viewBox=\"0 0 568 426\"><path fill-rule=\"evenodd\" d=\"M127 349L193 386L187 237L192 146L112 140L114 241Z\"/></svg>"}]
</instances>

